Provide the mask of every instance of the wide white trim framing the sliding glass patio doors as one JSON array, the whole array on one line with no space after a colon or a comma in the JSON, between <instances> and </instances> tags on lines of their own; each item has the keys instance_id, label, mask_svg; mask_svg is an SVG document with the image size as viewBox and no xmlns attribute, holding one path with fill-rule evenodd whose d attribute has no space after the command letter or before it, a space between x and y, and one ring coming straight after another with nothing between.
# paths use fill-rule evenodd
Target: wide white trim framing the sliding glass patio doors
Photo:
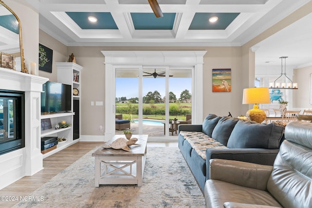
<instances>
[{"instance_id":1,"label":"wide white trim framing the sliding glass patio doors","mask_svg":"<svg viewBox=\"0 0 312 208\"><path fill-rule=\"evenodd\" d=\"M117 66L194 67L192 92L192 124L202 123L203 56L207 51L101 51L105 57L105 141L115 134L115 69ZM167 74L167 73L166 73ZM113 88L113 90L112 90ZM166 138L164 138L166 139ZM167 138L169 139L169 138ZM172 139L171 139L172 141Z\"/></svg>"}]
</instances>

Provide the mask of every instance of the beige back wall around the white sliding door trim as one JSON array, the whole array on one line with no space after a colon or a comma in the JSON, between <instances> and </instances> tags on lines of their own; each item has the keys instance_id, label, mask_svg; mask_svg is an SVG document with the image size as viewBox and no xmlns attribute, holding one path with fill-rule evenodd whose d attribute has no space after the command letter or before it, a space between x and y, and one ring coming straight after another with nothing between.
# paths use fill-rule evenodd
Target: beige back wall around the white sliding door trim
<instances>
[{"instance_id":1,"label":"beige back wall around the white sliding door trim","mask_svg":"<svg viewBox=\"0 0 312 208\"><path fill-rule=\"evenodd\" d=\"M215 113L223 116L231 112L233 116L245 114L248 105L242 105L243 74L241 67L241 47L68 47L68 54L73 53L77 63L83 66L81 75L81 134L102 135L99 125L105 126L104 106L91 106L91 101L105 103L105 65L100 51L109 50L146 50L146 51L207 51L203 65L203 116ZM212 92L212 69L232 69L232 92ZM245 84L248 85L248 84ZM245 108L245 109L244 109Z\"/></svg>"}]
</instances>

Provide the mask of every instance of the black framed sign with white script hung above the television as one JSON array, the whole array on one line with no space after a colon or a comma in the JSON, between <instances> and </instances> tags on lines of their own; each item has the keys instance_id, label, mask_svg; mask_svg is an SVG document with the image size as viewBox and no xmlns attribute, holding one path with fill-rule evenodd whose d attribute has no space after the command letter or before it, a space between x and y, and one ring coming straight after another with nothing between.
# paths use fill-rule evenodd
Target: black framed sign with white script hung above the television
<instances>
[{"instance_id":1,"label":"black framed sign with white script hung above the television","mask_svg":"<svg viewBox=\"0 0 312 208\"><path fill-rule=\"evenodd\" d=\"M53 50L39 43L39 70L52 73Z\"/></svg>"}]
</instances>

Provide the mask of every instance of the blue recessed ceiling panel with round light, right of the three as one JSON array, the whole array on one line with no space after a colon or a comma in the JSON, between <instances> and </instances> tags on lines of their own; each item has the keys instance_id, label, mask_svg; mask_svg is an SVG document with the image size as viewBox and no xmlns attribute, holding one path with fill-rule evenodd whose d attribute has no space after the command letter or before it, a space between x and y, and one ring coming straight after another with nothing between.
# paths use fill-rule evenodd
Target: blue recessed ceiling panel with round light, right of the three
<instances>
[{"instance_id":1,"label":"blue recessed ceiling panel with round light, right of the three","mask_svg":"<svg viewBox=\"0 0 312 208\"><path fill-rule=\"evenodd\" d=\"M195 13L189 30L225 30L239 13ZM211 17L218 17L216 22L209 22Z\"/></svg>"}]
</instances>

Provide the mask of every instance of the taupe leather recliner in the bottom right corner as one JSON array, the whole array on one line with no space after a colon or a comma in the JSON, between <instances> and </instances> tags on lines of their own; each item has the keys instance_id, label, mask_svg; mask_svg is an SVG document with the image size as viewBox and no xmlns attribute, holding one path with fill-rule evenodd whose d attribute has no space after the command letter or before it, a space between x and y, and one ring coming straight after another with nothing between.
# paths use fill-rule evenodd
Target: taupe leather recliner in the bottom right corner
<instances>
[{"instance_id":1,"label":"taupe leather recliner in the bottom right corner","mask_svg":"<svg viewBox=\"0 0 312 208\"><path fill-rule=\"evenodd\" d=\"M210 168L207 208L312 208L312 123L287 124L273 166L212 159Z\"/></svg>"}]
</instances>

